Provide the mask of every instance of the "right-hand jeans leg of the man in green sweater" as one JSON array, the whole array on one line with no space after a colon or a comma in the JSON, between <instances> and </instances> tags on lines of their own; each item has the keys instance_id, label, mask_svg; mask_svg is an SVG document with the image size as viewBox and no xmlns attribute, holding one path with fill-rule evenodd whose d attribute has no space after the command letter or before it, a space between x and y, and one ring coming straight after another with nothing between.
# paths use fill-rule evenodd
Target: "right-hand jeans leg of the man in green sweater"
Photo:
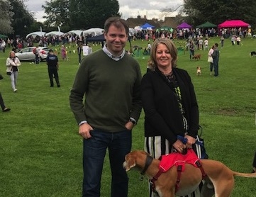
<instances>
[{"instance_id":1,"label":"right-hand jeans leg of the man in green sweater","mask_svg":"<svg viewBox=\"0 0 256 197\"><path fill-rule=\"evenodd\" d=\"M113 133L113 141L108 147L112 172L111 197L128 196L128 176L123 162L131 149L131 136L131 130Z\"/></svg>"}]
</instances>

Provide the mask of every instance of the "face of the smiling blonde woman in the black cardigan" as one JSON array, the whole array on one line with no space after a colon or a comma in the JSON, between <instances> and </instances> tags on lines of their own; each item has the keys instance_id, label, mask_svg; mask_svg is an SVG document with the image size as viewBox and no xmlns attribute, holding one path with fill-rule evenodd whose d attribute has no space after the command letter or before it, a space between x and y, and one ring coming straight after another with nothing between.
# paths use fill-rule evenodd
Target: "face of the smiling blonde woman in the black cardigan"
<instances>
[{"instance_id":1,"label":"face of the smiling blonde woman in the black cardigan","mask_svg":"<svg viewBox=\"0 0 256 197\"><path fill-rule=\"evenodd\" d=\"M172 56L167 46L160 43L156 50L157 67L172 67Z\"/></svg>"}]
</instances>

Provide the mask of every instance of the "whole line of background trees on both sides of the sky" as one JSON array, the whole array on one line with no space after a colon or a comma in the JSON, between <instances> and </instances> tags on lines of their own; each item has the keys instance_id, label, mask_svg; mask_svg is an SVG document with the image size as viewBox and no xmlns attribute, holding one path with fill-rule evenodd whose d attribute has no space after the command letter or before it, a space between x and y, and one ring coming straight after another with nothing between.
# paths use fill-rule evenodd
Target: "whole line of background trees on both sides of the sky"
<instances>
[{"instance_id":1,"label":"whole line of background trees on both sides of the sky","mask_svg":"<svg viewBox=\"0 0 256 197\"><path fill-rule=\"evenodd\" d=\"M117 0L52 0L45 1L45 22L37 22L35 13L28 11L27 0L0 0L0 33L26 36L40 30L48 32L60 26L63 32L74 29L104 27L110 16L121 16ZM171 4L171 2L170 2ZM186 21L198 26L210 21L218 25L226 20L240 19L255 27L256 1L249 0L184 0L177 23ZM167 9L165 9L165 12ZM172 9L169 9L172 12Z\"/></svg>"}]
</instances>

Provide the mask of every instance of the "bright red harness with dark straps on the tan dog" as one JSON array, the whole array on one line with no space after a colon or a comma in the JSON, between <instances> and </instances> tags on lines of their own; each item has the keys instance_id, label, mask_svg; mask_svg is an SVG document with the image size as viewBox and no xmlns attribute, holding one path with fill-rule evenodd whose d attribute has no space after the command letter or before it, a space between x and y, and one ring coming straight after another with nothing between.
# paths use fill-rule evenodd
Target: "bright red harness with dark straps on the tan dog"
<instances>
[{"instance_id":1,"label":"bright red harness with dark straps on the tan dog","mask_svg":"<svg viewBox=\"0 0 256 197\"><path fill-rule=\"evenodd\" d=\"M203 179L206 178L206 173L202 167L199 157L197 157L194 150L192 150L192 149L187 150L187 154L173 152L171 154L162 155L160 157L160 160L161 160L161 162L159 165L159 171L152 179L150 179L152 191L154 191L154 192L155 192L155 181L157 181L158 177L162 173L165 173L174 165L177 166L177 171L178 171L178 177L177 177L176 186L175 186L175 193L177 192L177 190L179 188L180 176L182 174L182 171L184 171L184 169L185 169L185 164L192 164L192 165L194 165L194 167L199 168L202 173L202 178Z\"/></svg>"}]
</instances>

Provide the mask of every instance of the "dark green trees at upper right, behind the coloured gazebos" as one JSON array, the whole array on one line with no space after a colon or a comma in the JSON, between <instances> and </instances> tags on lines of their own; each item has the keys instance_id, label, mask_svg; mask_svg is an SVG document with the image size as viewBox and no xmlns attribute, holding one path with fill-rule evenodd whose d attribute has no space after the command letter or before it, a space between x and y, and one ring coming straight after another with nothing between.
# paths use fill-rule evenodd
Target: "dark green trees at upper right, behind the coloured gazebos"
<instances>
[{"instance_id":1,"label":"dark green trees at upper right, behind the coloured gazebos","mask_svg":"<svg viewBox=\"0 0 256 197\"><path fill-rule=\"evenodd\" d=\"M240 19L255 24L256 1L249 0L184 0L184 13L195 26L211 21L219 24L226 20Z\"/></svg>"}]
</instances>

